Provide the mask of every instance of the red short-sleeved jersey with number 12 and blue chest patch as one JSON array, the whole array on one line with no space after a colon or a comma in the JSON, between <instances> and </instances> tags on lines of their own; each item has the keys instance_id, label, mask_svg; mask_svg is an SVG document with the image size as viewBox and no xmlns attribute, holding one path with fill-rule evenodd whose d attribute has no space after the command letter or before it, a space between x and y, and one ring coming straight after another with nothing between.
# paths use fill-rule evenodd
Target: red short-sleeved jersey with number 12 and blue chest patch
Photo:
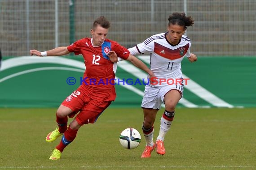
<instances>
[{"instance_id":1,"label":"red short-sleeved jersey with number 12 and blue chest patch","mask_svg":"<svg viewBox=\"0 0 256 170\"><path fill-rule=\"evenodd\" d=\"M109 51L115 51L117 56L127 59L130 52L115 41L105 39L101 46L94 47L92 38L83 38L67 47L68 51L84 57L85 72L82 86L93 98L105 101L114 101L115 70L114 63L106 55Z\"/></svg>"}]
</instances>

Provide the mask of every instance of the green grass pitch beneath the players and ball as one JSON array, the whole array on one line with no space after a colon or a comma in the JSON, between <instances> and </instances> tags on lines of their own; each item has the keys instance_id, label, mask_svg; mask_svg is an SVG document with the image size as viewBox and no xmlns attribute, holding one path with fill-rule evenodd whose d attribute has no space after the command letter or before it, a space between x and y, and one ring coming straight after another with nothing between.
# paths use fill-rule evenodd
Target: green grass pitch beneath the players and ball
<instances>
[{"instance_id":1,"label":"green grass pitch beneath the players and ball","mask_svg":"<svg viewBox=\"0 0 256 170\"><path fill-rule=\"evenodd\" d=\"M178 108L165 137L166 154L141 159L146 141L141 131L142 110L108 108L95 124L84 125L64 150L62 159L49 160L60 140L46 143L57 127L55 108L0 109L0 169L44 170L254 170L256 169L256 109ZM159 133L160 110L154 124ZM69 119L71 120L71 119ZM133 150L119 144L127 127L141 133Z\"/></svg>"}]
</instances>

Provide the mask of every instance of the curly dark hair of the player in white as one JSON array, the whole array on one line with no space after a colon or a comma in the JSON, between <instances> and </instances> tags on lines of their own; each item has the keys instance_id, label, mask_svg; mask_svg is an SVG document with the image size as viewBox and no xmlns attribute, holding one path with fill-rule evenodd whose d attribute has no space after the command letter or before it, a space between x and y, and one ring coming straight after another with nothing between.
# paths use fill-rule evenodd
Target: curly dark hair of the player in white
<instances>
[{"instance_id":1,"label":"curly dark hair of the player in white","mask_svg":"<svg viewBox=\"0 0 256 170\"><path fill-rule=\"evenodd\" d=\"M168 26L179 25L184 26L184 29L187 29L187 26L192 26L194 24L194 19L191 16L186 16L185 13L172 13L168 18Z\"/></svg>"}]
</instances>

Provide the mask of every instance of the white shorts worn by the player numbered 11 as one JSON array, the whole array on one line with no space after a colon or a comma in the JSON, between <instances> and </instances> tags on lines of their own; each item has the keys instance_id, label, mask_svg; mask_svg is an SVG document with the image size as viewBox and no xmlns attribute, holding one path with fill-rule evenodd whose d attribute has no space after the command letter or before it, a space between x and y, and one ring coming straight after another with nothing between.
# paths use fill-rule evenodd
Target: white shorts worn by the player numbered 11
<instances>
[{"instance_id":1,"label":"white shorts worn by the player numbered 11","mask_svg":"<svg viewBox=\"0 0 256 170\"><path fill-rule=\"evenodd\" d=\"M176 89L183 94L184 85L166 85L163 87L154 87L150 85L145 86L144 97L142 99L141 107L149 109L161 109L161 104L164 103L164 95L172 89Z\"/></svg>"}]
</instances>

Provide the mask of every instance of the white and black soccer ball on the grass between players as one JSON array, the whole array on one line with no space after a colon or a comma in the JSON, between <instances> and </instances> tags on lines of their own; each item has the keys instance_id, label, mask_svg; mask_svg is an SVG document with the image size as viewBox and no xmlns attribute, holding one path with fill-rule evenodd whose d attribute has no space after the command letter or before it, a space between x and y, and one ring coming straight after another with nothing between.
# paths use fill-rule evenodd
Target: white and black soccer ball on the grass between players
<instances>
[{"instance_id":1,"label":"white and black soccer ball on the grass between players","mask_svg":"<svg viewBox=\"0 0 256 170\"><path fill-rule=\"evenodd\" d=\"M135 149L141 143L141 135L134 128L127 128L119 137L120 144L126 149Z\"/></svg>"}]
</instances>

